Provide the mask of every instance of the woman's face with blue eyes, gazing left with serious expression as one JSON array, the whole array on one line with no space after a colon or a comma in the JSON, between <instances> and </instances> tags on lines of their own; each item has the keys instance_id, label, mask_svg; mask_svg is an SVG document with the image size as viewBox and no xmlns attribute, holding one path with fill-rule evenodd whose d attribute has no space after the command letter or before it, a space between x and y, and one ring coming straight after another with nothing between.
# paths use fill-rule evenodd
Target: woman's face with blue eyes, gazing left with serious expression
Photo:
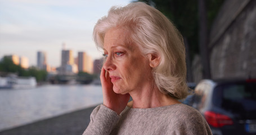
<instances>
[{"instance_id":1,"label":"woman's face with blue eyes, gazing left with serious expression","mask_svg":"<svg viewBox=\"0 0 256 135\"><path fill-rule=\"evenodd\" d=\"M129 93L151 83L151 67L125 28L112 28L104 37L104 69L109 72L115 93Z\"/></svg>"}]
</instances>

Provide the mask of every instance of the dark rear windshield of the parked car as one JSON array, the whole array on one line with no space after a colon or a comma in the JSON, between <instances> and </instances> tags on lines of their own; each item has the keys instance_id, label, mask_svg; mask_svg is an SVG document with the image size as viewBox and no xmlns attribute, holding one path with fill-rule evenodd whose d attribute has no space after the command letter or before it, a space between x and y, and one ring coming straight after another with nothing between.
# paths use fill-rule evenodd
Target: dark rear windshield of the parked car
<instances>
[{"instance_id":1,"label":"dark rear windshield of the parked car","mask_svg":"<svg viewBox=\"0 0 256 135\"><path fill-rule=\"evenodd\" d=\"M214 89L213 104L228 111L256 111L256 83L232 83Z\"/></svg>"}]
</instances>

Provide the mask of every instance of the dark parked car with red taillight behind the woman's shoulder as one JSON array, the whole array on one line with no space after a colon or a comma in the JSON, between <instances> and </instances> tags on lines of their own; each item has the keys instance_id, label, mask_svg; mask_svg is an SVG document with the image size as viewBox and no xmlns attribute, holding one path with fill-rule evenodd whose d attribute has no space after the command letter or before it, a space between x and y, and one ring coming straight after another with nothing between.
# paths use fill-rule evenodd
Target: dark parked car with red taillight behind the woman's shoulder
<instances>
[{"instance_id":1,"label":"dark parked car with red taillight behind the woman's shoulder","mask_svg":"<svg viewBox=\"0 0 256 135\"><path fill-rule=\"evenodd\" d=\"M256 79L201 80L193 100L213 134L256 134Z\"/></svg>"}]
</instances>

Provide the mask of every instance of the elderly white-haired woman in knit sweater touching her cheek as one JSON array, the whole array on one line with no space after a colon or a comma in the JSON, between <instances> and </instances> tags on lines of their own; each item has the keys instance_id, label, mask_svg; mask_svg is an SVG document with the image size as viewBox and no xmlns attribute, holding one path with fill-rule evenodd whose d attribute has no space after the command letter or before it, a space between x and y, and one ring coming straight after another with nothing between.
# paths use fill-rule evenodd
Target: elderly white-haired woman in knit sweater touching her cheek
<instances>
[{"instance_id":1,"label":"elderly white-haired woman in knit sweater touching her cheek","mask_svg":"<svg viewBox=\"0 0 256 135\"><path fill-rule=\"evenodd\" d=\"M93 37L105 56L104 102L83 134L212 134L198 111L178 101L189 94L185 47L161 12L141 2L112 7Z\"/></svg>"}]
</instances>

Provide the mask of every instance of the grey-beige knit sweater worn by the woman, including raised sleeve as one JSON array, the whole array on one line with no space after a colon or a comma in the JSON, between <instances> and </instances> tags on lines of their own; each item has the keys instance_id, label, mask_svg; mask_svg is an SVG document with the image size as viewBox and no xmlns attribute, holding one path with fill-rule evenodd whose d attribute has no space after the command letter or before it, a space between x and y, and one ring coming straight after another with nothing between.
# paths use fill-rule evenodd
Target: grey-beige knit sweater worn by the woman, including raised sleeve
<instances>
[{"instance_id":1,"label":"grey-beige knit sweater worn by the woman, including raised sleeve","mask_svg":"<svg viewBox=\"0 0 256 135\"><path fill-rule=\"evenodd\" d=\"M148 109L126 107L120 114L104 105L91 114L83 135L91 134L212 134L203 116L194 108L174 104Z\"/></svg>"}]
</instances>

